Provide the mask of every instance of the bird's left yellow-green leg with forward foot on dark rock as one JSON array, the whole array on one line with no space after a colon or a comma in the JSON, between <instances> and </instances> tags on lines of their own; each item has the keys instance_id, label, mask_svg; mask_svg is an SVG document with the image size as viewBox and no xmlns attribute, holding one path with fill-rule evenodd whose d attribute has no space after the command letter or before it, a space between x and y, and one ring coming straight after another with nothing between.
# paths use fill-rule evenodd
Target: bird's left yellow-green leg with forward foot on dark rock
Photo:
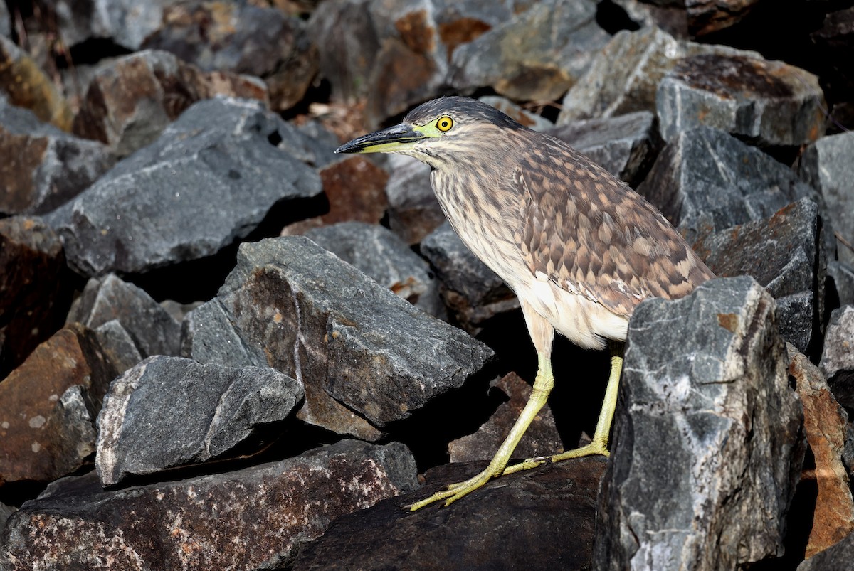
<instances>
[{"instance_id":1,"label":"bird's left yellow-green leg with forward foot on dark rock","mask_svg":"<svg viewBox=\"0 0 854 571\"><path fill-rule=\"evenodd\" d=\"M537 413L540 412L542 405L546 404L548 393L551 393L552 387L554 386L551 355L549 353L540 353L538 359L539 366L537 368L537 375L534 381L534 389L531 391L531 396L525 404L522 414L519 415L516 423L513 424L510 434L507 434L504 443L501 444L498 452L495 452L495 456L492 458L492 462L489 463L487 468L480 474L469 478L466 481L452 484L448 486L446 490L434 493L430 498L423 499L420 502L407 506L409 510L415 511L419 508L423 508L425 505L430 505L441 500L445 500L446 506L450 505L459 498L465 496L467 493L477 490L477 488L483 486L483 484L487 483L492 478L504 473L504 468L510 460L513 450L516 449L516 445L518 445L519 440L522 440L525 430L528 429L531 421L533 421Z\"/></svg>"}]
</instances>

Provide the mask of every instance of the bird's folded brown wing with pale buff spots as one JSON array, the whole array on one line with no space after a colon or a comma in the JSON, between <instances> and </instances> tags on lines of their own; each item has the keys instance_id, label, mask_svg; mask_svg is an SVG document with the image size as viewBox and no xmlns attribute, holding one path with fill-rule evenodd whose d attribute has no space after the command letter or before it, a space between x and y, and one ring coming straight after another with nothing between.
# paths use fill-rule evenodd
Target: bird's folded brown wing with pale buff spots
<instances>
[{"instance_id":1,"label":"bird's folded brown wing with pale buff spots","mask_svg":"<svg viewBox=\"0 0 854 571\"><path fill-rule=\"evenodd\" d=\"M714 277L658 210L568 146L531 155L513 184L521 210L515 234L530 271L617 315Z\"/></svg>"}]
</instances>

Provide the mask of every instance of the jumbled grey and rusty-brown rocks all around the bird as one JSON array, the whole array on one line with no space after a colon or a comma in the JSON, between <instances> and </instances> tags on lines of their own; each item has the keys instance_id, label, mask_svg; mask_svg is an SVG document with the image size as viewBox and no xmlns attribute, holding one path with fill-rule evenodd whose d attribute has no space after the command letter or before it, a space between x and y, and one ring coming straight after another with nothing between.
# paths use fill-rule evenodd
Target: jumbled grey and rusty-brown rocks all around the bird
<instances>
[{"instance_id":1,"label":"jumbled grey and rusty-brown rocks all around the bird","mask_svg":"<svg viewBox=\"0 0 854 571\"><path fill-rule=\"evenodd\" d=\"M848 568L852 46L837 0L0 3L0 568ZM720 278L635 312L610 458L410 514L535 375L427 167L333 153L447 94ZM594 428L607 355L555 353L520 458Z\"/></svg>"}]
</instances>

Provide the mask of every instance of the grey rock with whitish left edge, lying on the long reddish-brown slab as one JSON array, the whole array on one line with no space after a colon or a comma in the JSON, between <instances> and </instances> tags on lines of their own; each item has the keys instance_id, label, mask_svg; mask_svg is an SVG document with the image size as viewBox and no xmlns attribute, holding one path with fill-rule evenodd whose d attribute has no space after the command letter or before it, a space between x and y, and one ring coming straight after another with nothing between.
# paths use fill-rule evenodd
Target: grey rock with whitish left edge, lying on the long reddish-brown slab
<instances>
[{"instance_id":1,"label":"grey rock with whitish left edge, lying on the long reddish-brown slab","mask_svg":"<svg viewBox=\"0 0 854 571\"><path fill-rule=\"evenodd\" d=\"M147 358L117 378L104 397L98 476L112 486L129 475L221 457L259 425L284 420L303 396L299 382L269 368Z\"/></svg>"}]
</instances>

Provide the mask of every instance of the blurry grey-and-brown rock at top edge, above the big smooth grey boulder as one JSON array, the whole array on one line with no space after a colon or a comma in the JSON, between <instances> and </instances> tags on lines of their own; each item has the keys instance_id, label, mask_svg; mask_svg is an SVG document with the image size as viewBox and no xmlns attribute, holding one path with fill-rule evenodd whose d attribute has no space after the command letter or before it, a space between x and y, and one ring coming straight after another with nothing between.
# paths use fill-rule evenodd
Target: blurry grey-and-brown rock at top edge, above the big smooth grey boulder
<instances>
[{"instance_id":1,"label":"blurry grey-and-brown rock at top edge, above the big smooth grey boulder","mask_svg":"<svg viewBox=\"0 0 854 571\"><path fill-rule=\"evenodd\" d=\"M264 79L276 111L299 102L318 72L305 23L280 9L196 0L167 5L163 24L145 38L145 49L166 50L205 71Z\"/></svg>"}]
</instances>

